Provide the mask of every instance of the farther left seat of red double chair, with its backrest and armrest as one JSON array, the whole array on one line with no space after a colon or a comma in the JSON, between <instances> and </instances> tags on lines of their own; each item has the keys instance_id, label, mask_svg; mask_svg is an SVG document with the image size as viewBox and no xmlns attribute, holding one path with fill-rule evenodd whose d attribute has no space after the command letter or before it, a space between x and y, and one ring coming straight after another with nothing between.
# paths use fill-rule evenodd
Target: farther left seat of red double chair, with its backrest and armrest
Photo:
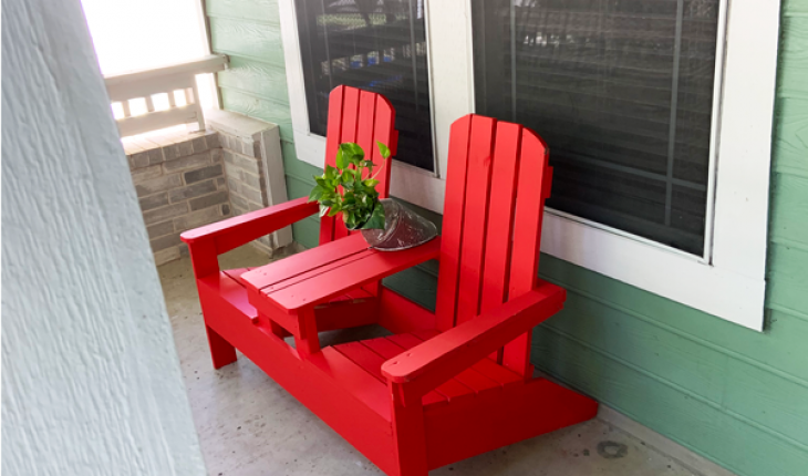
<instances>
[{"instance_id":1,"label":"farther left seat of red double chair, with its backrest and armrest","mask_svg":"<svg viewBox=\"0 0 808 476\"><path fill-rule=\"evenodd\" d=\"M395 110L381 94L355 87L338 86L329 96L329 122L325 163L335 166L336 148L341 143L355 142L369 154L369 158L380 170L376 178L381 197L389 196L391 159L384 159L376 141L387 145L391 157L395 155L398 132L394 128ZM214 366L219 369L236 361L236 351L210 325L208 318L221 313L232 314L231 319L248 318L258 322L256 308L249 303L241 276L250 268L219 270L217 256L238 248L261 236L290 226L319 211L317 203L308 198L290 200L286 204L240 215L227 220L186 231L182 239L188 244L197 279L199 300L206 319L208 343L214 358ZM320 219L320 244L344 238L351 232L339 217ZM334 299L334 304L318 309L320 330L333 330L375 322L377 284L369 283L353 289ZM274 324L279 335L288 332Z\"/></svg>"}]
</instances>

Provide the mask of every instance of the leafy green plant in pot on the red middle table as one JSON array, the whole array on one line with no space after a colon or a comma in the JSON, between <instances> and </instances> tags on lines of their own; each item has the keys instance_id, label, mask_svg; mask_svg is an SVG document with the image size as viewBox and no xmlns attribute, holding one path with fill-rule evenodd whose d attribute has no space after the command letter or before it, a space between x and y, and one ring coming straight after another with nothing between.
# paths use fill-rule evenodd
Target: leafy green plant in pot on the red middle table
<instances>
[{"instance_id":1,"label":"leafy green plant in pot on the red middle table","mask_svg":"<svg viewBox=\"0 0 808 476\"><path fill-rule=\"evenodd\" d=\"M390 148L376 142L382 157ZM374 164L365 159L364 149L355 143L340 144L336 167L325 166L323 175L314 176L317 185L309 201L320 204L320 216L340 215L349 230L361 230L367 244L376 249L398 250L424 244L435 236L435 225L390 198L380 199Z\"/></svg>"}]
</instances>

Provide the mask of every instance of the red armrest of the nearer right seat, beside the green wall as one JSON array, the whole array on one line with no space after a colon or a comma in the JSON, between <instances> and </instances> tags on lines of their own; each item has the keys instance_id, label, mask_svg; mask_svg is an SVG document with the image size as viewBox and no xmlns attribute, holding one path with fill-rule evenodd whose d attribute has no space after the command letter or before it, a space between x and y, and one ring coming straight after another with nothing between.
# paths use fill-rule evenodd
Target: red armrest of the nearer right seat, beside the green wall
<instances>
[{"instance_id":1,"label":"red armrest of the nearer right seat, beside the green wall","mask_svg":"<svg viewBox=\"0 0 808 476\"><path fill-rule=\"evenodd\" d=\"M566 297L563 288L539 280L527 294L389 360L382 374L426 393L558 312Z\"/></svg>"}]
</instances>

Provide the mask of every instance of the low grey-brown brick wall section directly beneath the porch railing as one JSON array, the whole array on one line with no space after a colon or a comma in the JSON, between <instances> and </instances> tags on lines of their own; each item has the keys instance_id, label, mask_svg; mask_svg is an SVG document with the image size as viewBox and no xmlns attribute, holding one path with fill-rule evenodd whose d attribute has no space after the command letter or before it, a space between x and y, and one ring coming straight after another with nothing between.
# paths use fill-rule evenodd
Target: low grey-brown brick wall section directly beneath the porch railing
<instances>
[{"instance_id":1,"label":"low grey-brown brick wall section directly beneath the porch railing","mask_svg":"<svg viewBox=\"0 0 808 476\"><path fill-rule=\"evenodd\" d=\"M179 234L232 215L218 133L180 131L123 143L158 266L187 255Z\"/></svg>"}]
</instances>

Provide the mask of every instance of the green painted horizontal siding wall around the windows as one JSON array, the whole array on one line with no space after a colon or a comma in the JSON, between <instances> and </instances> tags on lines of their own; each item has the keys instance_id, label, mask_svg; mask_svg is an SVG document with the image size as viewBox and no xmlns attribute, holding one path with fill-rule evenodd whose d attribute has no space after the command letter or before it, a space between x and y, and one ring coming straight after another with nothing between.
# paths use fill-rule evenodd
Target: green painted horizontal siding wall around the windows
<instances>
[{"instance_id":1,"label":"green painted horizontal siding wall around the windows","mask_svg":"<svg viewBox=\"0 0 808 476\"><path fill-rule=\"evenodd\" d=\"M290 197L317 168L297 159L276 0L208 0L225 107L281 125ZM569 385L744 476L808 475L808 0L784 0L767 331L758 333L549 256L569 290L536 332L534 362ZM439 223L439 216L425 213ZM318 223L294 226L317 245ZM437 267L387 280L431 307Z\"/></svg>"}]
</instances>

